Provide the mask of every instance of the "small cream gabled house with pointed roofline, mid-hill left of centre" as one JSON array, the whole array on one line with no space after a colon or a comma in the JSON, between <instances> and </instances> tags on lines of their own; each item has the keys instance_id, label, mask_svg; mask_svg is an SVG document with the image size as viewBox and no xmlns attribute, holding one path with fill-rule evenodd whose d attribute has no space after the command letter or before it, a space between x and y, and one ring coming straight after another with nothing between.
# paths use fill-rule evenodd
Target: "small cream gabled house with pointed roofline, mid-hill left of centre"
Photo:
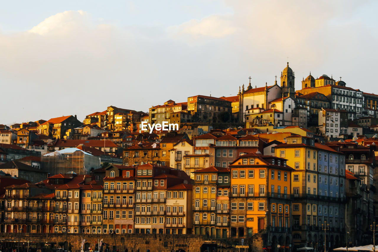
<instances>
[{"instance_id":1,"label":"small cream gabled house with pointed roofline, mid-hill left of centre","mask_svg":"<svg viewBox=\"0 0 378 252\"><path fill-rule=\"evenodd\" d=\"M185 159L184 156L193 154L193 141L182 139L173 145L170 150L169 155L169 166L170 168L177 170L185 170ZM190 169L185 170L188 176L191 176Z\"/></svg>"}]
</instances>

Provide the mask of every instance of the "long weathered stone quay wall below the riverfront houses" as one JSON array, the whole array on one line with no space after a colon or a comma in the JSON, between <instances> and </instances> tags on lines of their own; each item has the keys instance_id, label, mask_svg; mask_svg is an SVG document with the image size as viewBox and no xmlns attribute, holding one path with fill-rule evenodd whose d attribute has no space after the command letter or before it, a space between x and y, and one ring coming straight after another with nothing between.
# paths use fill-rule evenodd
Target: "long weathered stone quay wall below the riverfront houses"
<instances>
[{"instance_id":1,"label":"long weathered stone quay wall below the riverfront houses","mask_svg":"<svg viewBox=\"0 0 378 252\"><path fill-rule=\"evenodd\" d=\"M0 233L0 240L4 243L14 243L18 241L30 244L35 249L43 247L50 249L60 248L59 243L65 243L67 248L71 246L72 252L81 250L81 241L85 239L84 251L95 250L99 240L107 244L109 250L119 250L124 252L125 248L131 252L170 252L183 249L186 252L199 252L200 247L208 239L198 235L169 235L169 234L114 234L114 235L88 235L88 234L62 234L62 233ZM43 245L42 245L43 244ZM48 244L48 245L45 245ZM23 245L20 245L23 246ZM67 247L66 247L67 246ZM104 247L103 247L104 248Z\"/></svg>"}]
</instances>

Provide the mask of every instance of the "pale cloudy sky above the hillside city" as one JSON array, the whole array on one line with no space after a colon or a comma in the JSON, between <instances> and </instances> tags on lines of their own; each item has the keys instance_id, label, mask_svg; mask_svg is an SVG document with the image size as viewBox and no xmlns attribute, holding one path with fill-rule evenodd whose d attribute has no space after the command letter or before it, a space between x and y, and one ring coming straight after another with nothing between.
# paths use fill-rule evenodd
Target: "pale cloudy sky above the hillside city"
<instances>
[{"instance_id":1,"label":"pale cloudy sky above the hillside city","mask_svg":"<svg viewBox=\"0 0 378 252\"><path fill-rule=\"evenodd\" d=\"M0 124L148 112L311 74L378 94L377 1L6 1Z\"/></svg>"}]
</instances>

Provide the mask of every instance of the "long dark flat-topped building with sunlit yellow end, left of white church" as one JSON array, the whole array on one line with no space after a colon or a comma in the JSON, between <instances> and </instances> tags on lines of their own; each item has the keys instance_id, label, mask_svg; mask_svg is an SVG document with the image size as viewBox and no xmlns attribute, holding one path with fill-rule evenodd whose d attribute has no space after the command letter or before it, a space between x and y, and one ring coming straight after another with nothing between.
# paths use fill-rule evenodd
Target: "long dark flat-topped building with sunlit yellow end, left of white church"
<instances>
[{"instance_id":1,"label":"long dark flat-topped building with sunlit yellow end, left of white church","mask_svg":"<svg viewBox=\"0 0 378 252\"><path fill-rule=\"evenodd\" d=\"M192 114L192 121L201 123L225 123L232 115L231 101L205 95L188 97L187 111Z\"/></svg>"}]
</instances>

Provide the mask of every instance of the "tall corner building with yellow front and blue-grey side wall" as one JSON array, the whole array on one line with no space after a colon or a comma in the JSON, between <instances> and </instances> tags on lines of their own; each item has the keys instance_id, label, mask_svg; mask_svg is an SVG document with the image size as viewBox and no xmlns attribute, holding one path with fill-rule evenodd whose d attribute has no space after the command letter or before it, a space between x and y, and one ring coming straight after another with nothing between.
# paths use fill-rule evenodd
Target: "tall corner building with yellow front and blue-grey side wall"
<instances>
[{"instance_id":1,"label":"tall corner building with yellow front and blue-grey side wall","mask_svg":"<svg viewBox=\"0 0 378 252\"><path fill-rule=\"evenodd\" d=\"M276 156L290 157L288 165L295 170L291 183L294 244L322 247L324 221L332 228L332 235L327 235L331 247L341 244L344 239L344 154L315 143L313 138L301 136L287 137L287 143L274 149Z\"/></svg>"}]
</instances>

